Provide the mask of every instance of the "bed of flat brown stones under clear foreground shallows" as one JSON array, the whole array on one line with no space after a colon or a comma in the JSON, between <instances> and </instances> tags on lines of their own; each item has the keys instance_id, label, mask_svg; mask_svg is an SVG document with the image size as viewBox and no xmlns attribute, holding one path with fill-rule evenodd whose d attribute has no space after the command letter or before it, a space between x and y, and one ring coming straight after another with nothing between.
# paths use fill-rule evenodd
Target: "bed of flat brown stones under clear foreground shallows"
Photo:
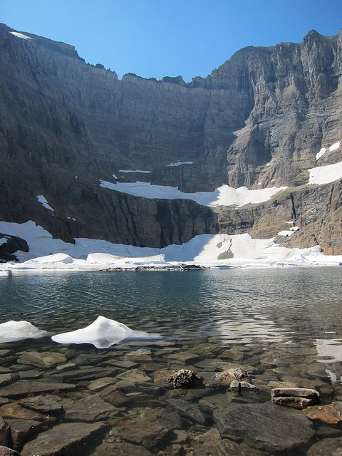
<instances>
[{"instance_id":1,"label":"bed of flat brown stones under clear foreground shallows","mask_svg":"<svg viewBox=\"0 0 342 456\"><path fill-rule=\"evenodd\" d=\"M335 455L341 384L321 363L301 376L296 363L211 338L104 350L47 338L2 344L0 455ZM271 402L296 388L320 403Z\"/></svg>"}]
</instances>

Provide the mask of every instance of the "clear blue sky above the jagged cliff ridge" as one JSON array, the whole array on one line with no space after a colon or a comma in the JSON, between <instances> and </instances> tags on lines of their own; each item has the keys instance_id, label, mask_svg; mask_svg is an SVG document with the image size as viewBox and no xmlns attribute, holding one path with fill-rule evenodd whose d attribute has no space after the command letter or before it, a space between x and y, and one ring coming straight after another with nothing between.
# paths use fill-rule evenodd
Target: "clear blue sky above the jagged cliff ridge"
<instances>
[{"instance_id":1,"label":"clear blue sky above the jagged cliff ridge","mask_svg":"<svg viewBox=\"0 0 342 456\"><path fill-rule=\"evenodd\" d=\"M342 0L0 0L0 22L143 78L205 77L245 46L339 33Z\"/></svg>"}]
</instances>

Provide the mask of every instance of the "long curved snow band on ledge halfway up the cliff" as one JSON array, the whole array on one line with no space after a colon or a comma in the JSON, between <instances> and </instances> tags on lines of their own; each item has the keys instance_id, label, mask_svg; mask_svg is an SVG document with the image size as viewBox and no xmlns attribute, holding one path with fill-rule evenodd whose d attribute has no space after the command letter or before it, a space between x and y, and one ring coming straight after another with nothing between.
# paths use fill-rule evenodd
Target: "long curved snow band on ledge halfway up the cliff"
<instances>
[{"instance_id":1,"label":"long curved snow band on ledge halfway up the cliff","mask_svg":"<svg viewBox=\"0 0 342 456\"><path fill-rule=\"evenodd\" d=\"M150 182L108 182L100 180L100 187L116 190L118 192L144 197L149 199L192 199L202 206L234 206L242 207L245 204L259 204L265 202L276 193L287 187L272 187L260 190L249 190L247 187L233 188L222 185L214 192L185 193L178 187L168 185L151 185Z\"/></svg>"}]
</instances>

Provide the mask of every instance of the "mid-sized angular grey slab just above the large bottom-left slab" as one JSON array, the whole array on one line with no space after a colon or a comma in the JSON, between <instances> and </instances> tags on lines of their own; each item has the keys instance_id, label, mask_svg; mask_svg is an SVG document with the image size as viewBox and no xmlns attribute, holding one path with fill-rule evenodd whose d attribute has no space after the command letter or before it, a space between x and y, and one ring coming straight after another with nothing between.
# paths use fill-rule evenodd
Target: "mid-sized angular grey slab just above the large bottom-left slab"
<instances>
[{"instance_id":1,"label":"mid-sized angular grey slab just above the large bottom-left slab","mask_svg":"<svg viewBox=\"0 0 342 456\"><path fill-rule=\"evenodd\" d=\"M79 400L70 400L63 404L63 408L66 412L66 420L86 421L87 423L108 420L108 418L118 415L119 412L114 405L105 402L98 394Z\"/></svg>"}]
</instances>

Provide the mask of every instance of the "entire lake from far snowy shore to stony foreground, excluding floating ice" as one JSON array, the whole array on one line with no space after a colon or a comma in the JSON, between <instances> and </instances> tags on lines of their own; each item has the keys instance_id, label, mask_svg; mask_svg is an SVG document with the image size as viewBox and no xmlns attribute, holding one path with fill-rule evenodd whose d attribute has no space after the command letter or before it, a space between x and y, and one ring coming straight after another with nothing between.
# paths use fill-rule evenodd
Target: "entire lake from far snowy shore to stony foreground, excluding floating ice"
<instances>
[{"instance_id":1,"label":"entire lake from far snowy shore to stony foreground, excluding floating ice","mask_svg":"<svg viewBox=\"0 0 342 456\"><path fill-rule=\"evenodd\" d=\"M317 268L0 281L2 321L61 333L105 314L162 336L105 349L49 336L2 343L0 443L13 452L0 455L341 454L340 277ZM167 382L184 370L196 384ZM243 378L232 382L232 371ZM276 405L274 388L320 400Z\"/></svg>"}]
</instances>

